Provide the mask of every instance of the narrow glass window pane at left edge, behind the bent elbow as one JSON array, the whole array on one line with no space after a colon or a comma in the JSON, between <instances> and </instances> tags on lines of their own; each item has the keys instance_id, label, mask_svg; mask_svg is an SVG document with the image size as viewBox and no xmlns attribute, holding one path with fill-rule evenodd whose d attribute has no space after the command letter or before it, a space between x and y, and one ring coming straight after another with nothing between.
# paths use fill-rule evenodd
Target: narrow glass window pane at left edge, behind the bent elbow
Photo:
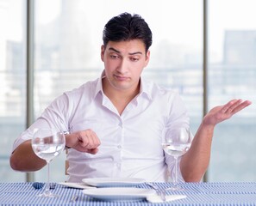
<instances>
[{"instance_id":1,"label":"narrow glass window pane at left edge, behind the bent elbow","mask_svg":"<svg viewBox=\"0 0 256 206\"><path fill-rule=\"evenodd\" d=\"M0 181L22 181L9 167L16 136L26 125L26 7L23 0L0 0Z\"/></svg>"}]
</instances>

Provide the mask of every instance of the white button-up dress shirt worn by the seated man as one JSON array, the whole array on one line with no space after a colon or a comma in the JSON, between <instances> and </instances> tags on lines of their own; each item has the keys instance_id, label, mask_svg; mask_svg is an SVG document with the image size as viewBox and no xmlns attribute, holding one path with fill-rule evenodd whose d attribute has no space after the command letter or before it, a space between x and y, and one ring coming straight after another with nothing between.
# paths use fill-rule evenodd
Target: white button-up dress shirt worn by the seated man
<instances>
[{"instance_id":1,"label":"white button-up dress shirt worn by the seated man","mask_svg":"<svg viewBox=\"0 0 256 206\"><path fill-rule=\"evenodd\" d=\"M173 175L174 161L163 152L162 131L182 125L189 126L189 118L177 93L140 78L140 94L120 115L103 94L99 78L53 100L16 139L13 149L31 139L34 128L55 127L71 133L91 129L101 141L99 151L88 154L69 149L69 182L99 177L166 181L168 168Z\"/></svg>"}]
</instances>

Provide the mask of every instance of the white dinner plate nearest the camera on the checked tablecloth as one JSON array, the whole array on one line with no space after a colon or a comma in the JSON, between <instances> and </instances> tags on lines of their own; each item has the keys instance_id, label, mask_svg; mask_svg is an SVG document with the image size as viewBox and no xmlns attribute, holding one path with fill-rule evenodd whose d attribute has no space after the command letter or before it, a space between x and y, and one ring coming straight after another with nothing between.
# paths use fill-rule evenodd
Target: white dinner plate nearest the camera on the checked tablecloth
<instances>
[{"instance_id":1,"label":"white dinner plate nearest the camera on the checked tablecloth","mask_svg":"<svg viewBox=\"0 0 256 206\"><path fill-rule=\"evenodd\" d=\"M136 187L104 187L83 190L84 195L104 201L139 201L155 191Z\"/></svg>"}]
</instances>

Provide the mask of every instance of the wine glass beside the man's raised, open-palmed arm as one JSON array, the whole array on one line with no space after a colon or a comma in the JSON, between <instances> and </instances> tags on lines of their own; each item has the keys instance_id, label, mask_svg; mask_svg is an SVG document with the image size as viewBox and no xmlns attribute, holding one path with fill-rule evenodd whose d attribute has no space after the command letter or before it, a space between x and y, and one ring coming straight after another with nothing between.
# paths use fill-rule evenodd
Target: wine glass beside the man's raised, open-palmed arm
<instances>
[{"instance_id":1,"label":"wine glass beside the man's raised, open-palmed arm","mask_svg":"<svg viewBox=\"0 0 256 206\"><path fill-rule=\"evenodd\" d=\"M172 155L175 160L173 186L166 190L182 191L178 186L178 157L184 155L189 149L192 142L192 134L190 128L178 127L174 129L165 129L162 147L166 154Z\"/></svg>"}]
</instances>

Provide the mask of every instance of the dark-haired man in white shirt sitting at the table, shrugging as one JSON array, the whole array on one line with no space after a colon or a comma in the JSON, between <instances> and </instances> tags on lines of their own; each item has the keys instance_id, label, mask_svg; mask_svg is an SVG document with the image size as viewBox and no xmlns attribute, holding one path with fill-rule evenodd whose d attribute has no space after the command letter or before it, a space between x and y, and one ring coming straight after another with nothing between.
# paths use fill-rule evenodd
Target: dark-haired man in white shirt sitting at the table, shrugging
<instances>
[{"instance_id":1,"label":"dark-haired man in white shirt sitting at the table, shrugging","mask_svg":"<svg viewBox=\"0 0 256 206\"><path fill-rule=\"evenodd\" d=\"M69 131L70 182L84 178L133 177L166 181L174 161L161 147L165 128L189 127L184 103L170 90L140 75L150 58L152 33L140 15L113 17L103 30L101 78L59 96L14 143L10 166L36 171L46 165L31 148L34 128ZM215 125L249 106L230 100L204 118L190 150L178 163L179 179L200 181L209 165Z\"/></svg>"}]
</instances>

